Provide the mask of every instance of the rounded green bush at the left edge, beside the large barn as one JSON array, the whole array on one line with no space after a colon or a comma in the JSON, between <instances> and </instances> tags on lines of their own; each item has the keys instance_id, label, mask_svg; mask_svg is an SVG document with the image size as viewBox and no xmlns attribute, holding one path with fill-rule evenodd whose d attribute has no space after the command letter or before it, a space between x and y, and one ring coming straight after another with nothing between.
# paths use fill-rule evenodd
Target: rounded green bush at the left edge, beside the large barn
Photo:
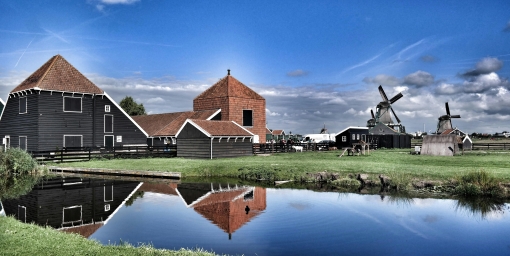
<instances>
[{"instance_id":1,"label":"rounded green bush at the left edge, beside the large barn","mask_svg":"<svg viewBox=\"0 0 510 256\"><path fill-rule=\"evenodd\" d=\"M0 174L27 174L35 170L37 162L19 148L9 148L0 153Z\"/></svg>"}]
</instances>

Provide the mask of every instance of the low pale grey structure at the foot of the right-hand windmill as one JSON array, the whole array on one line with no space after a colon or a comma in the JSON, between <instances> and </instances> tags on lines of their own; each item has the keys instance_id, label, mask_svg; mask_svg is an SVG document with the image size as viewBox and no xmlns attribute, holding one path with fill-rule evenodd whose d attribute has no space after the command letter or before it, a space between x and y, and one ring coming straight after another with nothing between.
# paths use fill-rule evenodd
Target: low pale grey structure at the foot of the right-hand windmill
<instances>
[{"instance_id":1,"label":"low pale grey structure at the foot of the right-hand windmill","mask_svg":"<svg viewBox=\"0 0 510 256\"><path fill-rule=\"evenodd\" d=\"M455 134L423 136L422 155L454 156L460 153L459 138Z\"/></svg>"}]
</instances>

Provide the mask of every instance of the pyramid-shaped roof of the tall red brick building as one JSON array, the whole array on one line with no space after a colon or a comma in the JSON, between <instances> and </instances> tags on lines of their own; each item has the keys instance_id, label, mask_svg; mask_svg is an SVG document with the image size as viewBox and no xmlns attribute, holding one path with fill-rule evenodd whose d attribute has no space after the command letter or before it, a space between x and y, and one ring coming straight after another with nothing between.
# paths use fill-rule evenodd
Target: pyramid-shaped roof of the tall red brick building
<instances>
[{"instance_id":1,"label":"pyramid-shaped roof of the tall red brick building","mask_svg":"<svg viewBox=\"0 0 510 256\"><path fill-rule=\"evenodd\" d=\"M245 99L263 100L264 98L258 93L250 89L248 86L239 82L230 75L230 70L227 76L223 77L220 81L215 83L209 89L202 92L194 100L197 99L211 99L223 97L236 97Z\"/></svg>"}]
</instances>

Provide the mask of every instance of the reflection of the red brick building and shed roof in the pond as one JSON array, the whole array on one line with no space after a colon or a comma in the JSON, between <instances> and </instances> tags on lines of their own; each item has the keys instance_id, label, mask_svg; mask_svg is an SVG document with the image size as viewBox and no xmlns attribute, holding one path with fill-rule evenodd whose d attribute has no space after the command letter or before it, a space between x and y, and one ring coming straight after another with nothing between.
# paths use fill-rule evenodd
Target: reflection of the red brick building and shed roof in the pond
<instances>
[{"instance_id":1,"label":"reflection of the red brick building and shed roof in the pond","mask_svg":"<svg viewBox=\"0 0 510 256\"><path fill-rule=\"evenodd\" d=\"M229 234L266 209L266 189L252 186L179 184L176 192L185 205Z\"/></svg>"}]
</instances>

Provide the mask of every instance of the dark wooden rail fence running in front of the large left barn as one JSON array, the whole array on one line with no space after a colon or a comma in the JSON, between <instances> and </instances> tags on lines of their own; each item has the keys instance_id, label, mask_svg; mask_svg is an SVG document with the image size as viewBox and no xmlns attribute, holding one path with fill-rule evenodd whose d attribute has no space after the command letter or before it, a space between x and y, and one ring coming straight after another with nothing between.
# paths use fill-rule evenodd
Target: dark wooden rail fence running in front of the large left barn
<instances>
[{"instance_id":1,"label":"dark wooden rail fence running in front of the large left barn","mask_svg":"<svg viewBox=\"0 0 510 256\"><path fill-rule=\"evenodd\" d=\"M63 148L54 151L29 152L38 162L75 162L91 159L175 157L177 145L137 146L117 148Z\"/></svg>"}]
</instances>

